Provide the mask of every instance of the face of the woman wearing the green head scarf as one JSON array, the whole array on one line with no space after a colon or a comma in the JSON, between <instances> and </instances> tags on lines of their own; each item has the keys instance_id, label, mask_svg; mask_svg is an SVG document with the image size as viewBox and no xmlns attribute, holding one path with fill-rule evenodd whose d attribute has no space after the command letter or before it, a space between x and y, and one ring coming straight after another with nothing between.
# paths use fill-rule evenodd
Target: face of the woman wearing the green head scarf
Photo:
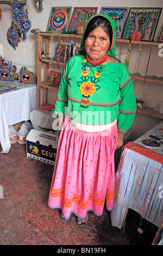
<instances>
[{"instance_id":1,"label":"face of the woman wearing the green head scarf","mask_svg":"<svg viewBox=\"0 0 163 256\"><path fill-rule=\"evenodd\" d=\"M94 62L105 57L110 46L109 35L99 26L90 32L85 40L85 50L90 59Z\"/></svg>"}]
</instances>

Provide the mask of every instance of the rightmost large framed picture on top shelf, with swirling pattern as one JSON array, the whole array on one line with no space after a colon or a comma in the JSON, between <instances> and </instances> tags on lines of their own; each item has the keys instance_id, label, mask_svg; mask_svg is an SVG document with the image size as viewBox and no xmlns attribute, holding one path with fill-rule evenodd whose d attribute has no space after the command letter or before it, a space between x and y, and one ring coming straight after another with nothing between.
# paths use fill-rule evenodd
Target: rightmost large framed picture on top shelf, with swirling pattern
<instances>
[{"instance_id":1,"label":"rightmost large framed picture on top shelf, with swirling pattern","mask_svg":"<svg viewBox=\"0 0 163 256\"><path fill-rule=\"evenodd\" d=\"M123 39L140 33L142 41L153 41L162 8L130 8Z\"/></svg>"}]
</instances>

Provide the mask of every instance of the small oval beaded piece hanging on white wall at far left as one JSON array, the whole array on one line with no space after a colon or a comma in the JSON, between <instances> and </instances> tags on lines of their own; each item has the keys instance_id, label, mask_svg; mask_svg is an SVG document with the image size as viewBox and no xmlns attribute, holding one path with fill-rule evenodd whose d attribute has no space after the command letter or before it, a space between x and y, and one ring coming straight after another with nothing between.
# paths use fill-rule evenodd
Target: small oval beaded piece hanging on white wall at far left
<instances>
[{"instance_id":1,"label":"small oval beaded piece hanging on white wall at far left","mask_svg":"<svg viewBox=\"0 0 163 256\"><path fill-rule=\"evenodd\" d=\"M7 40L9 44L16 50L18 43L20 42L20 32L17 29L16 24L14 22L11 23L11 27L7 32Z\"/></svg>"}]
</instances>

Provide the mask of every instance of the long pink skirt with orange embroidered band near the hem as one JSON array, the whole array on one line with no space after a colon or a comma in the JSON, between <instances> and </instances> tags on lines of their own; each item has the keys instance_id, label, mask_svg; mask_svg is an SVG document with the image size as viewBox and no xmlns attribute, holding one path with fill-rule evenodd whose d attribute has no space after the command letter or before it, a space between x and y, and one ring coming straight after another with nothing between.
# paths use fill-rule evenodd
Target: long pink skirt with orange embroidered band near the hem
<instances>
[{"instance_id":1,"label":"long pink skirt with orange embroidered band near the hem","mask_svg":"<svg viewBox=\"0 0 163 256\"><path fill-rule=\"evenodd\" d=\"M66 123L66 121L65 121ZM114 153L117 124L103 132L77 130L68 122L60 133L48 205L61 209L65 218L87 211L103 214L104 203L114 205Z\"/></svg>"}]
</instances>

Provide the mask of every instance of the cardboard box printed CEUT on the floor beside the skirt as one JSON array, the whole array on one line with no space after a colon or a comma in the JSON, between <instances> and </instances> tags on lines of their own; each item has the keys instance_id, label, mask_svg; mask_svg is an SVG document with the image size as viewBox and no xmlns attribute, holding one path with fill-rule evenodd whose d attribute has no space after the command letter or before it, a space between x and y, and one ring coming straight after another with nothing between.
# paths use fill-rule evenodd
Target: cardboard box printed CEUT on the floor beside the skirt
<instances>
[{"instance_id":1,"label":"cardboard box printed CEUT on the floor beside the skirt","mask_svg":"<svg viewBox=\"0 0 163 256\"><path fill-rule=\"evenodd\" d=\"M54 166L57 145L57 135L30 130L26 138L27 158Z\"/></svg>"}]
</instances>

